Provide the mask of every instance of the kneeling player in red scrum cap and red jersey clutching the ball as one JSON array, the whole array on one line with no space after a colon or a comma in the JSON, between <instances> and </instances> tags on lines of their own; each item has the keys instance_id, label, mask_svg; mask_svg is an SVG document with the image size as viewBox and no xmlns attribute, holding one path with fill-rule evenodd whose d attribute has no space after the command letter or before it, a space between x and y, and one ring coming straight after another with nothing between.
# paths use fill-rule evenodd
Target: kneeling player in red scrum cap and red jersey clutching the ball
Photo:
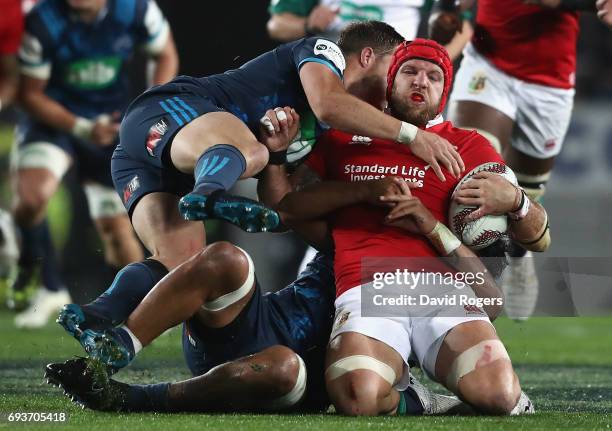
<instances>
[{"instance_id":1,"label":"kneeling player in red scrum cap and red jersey clutching the ball","mask_svg":"<svg viewBox=\"0 0 612 431\"><path fill-rule=\"evenodd\" d=\"M448 55L439 45L424 40L402 45L389 71L391 114L410 118L421 127L429 125L429 131L452 142L466 164L466 172L486 162L503 163L476 132L455 128L449 122L432 122L444 107L451 80ZM409 380L407 363L412 356L427 374L478 411L524 411L529 403L490 323L501 308L497 301L500 293L492 280L464 292L489 298L489 305L483 308L446 304L429 309L427 317L422 317L418 307L407 306L404 317L362 316L362 307L366 307L362 291L375 278L363 268L364 259L378 259L384 272L418 272L423 261L404 259L399 261L403 266L392 268L398 261L390 263L384 258L426 257L430 258L426 268L437 271L436 256L474 256L444 226L459 179L439 181L425 163L390 141L338 131L324 137L306 164L324 181L287 194L279 209L290 225L330 214L326 220L335 245L337 299L326 382L336 409L350 415L403 413L409 401L403 389ZM362 180L379 176L401 178L393 180L397 192L384 197L385 202L396 203L390 211L364 205L375 203L376 196L364 192L367 181ZM513 235L526 242L546 229L543 209L539 205L533 208L522 221L511 222ZM505 211L511 211L510 207ZM453 260L459 270L466 270L462 266L467 265L472 271L484 271L475 259ZM427 290L428 294L443 297L453 289L436 288Z\"/></svg>"}]
</instances>

